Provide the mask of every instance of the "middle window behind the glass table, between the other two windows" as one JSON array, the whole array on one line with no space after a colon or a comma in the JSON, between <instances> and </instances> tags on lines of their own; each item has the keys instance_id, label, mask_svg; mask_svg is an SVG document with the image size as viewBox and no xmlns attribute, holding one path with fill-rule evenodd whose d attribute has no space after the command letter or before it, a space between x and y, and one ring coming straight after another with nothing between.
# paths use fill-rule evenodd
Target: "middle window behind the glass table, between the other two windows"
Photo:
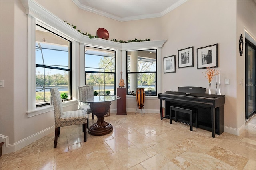
<instances>
[{"instance_id":1,"label":"middle window behind the glass table, between the other two windows","mask_svg":"<svg viewBox=\"0 0 256 170\"><path fill-rule=\"evenodd\" d=\"M116 51L85 47L85 85L97 95L116 94Z\"/></svg>"}]
</instances>

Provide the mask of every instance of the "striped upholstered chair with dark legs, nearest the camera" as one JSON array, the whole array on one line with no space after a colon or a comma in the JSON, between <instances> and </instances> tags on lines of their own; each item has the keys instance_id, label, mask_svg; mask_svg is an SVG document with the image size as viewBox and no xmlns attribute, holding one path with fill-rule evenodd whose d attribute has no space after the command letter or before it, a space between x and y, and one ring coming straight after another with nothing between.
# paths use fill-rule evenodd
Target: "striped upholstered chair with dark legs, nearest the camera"
<instances>
[{"instance_id":1,"label":"striped upholstered chair with dark legs, nearest the camera","mask_svg":"<svg viewBox=\"0 0 256 170\"><path fill-rule=\"evenodd\" d=\"M52 103L54 108L54 119L55 119L55 138L54 138L54 148L57 147L58 136L60 136L60 127L70 126L70 125L83 125L84 131L84 142L86 142L86 124L88 120L88 115L85 110L77 111L66 111L63 112L62 101L60 97L60 92L57 88L51 89ZM85 130L84 130L85 129Z\"/></svg>"}]
</instances>

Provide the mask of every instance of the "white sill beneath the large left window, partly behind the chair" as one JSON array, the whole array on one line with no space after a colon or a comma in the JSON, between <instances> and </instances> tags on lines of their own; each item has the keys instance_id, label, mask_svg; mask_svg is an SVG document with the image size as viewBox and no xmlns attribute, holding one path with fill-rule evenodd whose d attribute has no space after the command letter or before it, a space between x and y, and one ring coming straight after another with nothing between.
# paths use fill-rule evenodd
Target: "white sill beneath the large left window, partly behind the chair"
<instances>
[{"instance_id":1,"label":"white sill beneath the large left window, partly behind the chair","mask_svg":"<svg viewBox=\"0 0 256 170\"><path fill-rule=\"evenodd\" d=\"M70 101L62 102L63 107L71 106L71 105L75 105L75 104L77 104L77 100L70 100ZM46 113L49 111L53 111L53 105L38 107L33 111L27 111L26 114L28 115L28 117L33 117L33 116L40 115L40 114L43 114L43 113Z\"/></svg>"}]
</instances>

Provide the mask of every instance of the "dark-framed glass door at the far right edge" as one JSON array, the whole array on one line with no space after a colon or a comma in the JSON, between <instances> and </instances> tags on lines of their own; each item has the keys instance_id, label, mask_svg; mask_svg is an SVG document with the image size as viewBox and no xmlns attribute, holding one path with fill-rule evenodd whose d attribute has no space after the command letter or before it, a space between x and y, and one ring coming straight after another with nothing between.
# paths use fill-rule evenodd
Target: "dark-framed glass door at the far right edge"
<instances>
[{"instance_id":1,"label":"dark-framed glass door at the far right edge","mask_svg":"<svg viewBox=\"0 0 256 170\"><path fill-rule=\"evenodd\" d=\"M256 113L256 47L248 40L245 43L246 59L246 111L245 117L248 119Z\"/></svg>"}]
</instances>

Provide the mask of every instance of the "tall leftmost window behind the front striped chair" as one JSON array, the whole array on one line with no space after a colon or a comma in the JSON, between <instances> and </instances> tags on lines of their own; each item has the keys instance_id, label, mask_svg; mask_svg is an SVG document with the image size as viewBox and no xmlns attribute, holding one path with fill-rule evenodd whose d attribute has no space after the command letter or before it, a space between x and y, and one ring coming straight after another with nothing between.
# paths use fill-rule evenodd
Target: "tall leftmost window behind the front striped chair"
<instances>
[{"instance_id":1,"label":"tall leftmost window behind the front striped chair","mask_svg":"<svg viewBox=\"0 0 256 170\"><path fill-rule=\"evenodd\" d=\"M50 89L71 99L71 42L36 24L36 107L50 104Z\"/></svg>"}]
</instances>

